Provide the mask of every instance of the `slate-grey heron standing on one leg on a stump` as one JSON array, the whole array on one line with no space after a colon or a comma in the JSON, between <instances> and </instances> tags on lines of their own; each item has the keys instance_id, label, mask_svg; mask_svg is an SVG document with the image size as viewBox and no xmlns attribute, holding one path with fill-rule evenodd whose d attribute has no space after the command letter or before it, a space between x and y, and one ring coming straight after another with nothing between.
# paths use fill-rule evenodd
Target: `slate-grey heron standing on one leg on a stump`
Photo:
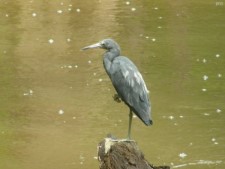
<instances>
[{"instance_id":1,"label":"slate-grey heron standing on one leg on a stump","mask_svg":"<svg viewBox=\"0 0 225 169\"><path fill-rule=\"evenodd\" d=\"M128 140L130 140L133 113L147 126L153 124L149 91L135 64L120 55L120 46L112 39L104 39L81 50L102 48L103 65L117 92L116 100L122 100L129 107Z\"/></svg>"}]
</instances>

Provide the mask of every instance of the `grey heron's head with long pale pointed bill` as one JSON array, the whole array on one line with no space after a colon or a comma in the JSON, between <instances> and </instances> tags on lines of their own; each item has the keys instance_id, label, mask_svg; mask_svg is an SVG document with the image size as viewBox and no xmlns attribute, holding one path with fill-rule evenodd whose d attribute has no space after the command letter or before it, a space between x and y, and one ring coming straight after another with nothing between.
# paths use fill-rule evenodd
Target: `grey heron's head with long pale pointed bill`
<instances>
[{"instance_id":1,"label":"grey heron's head with long pale pointed bill","mask_svg":"<svg viewBox=\"0 0 225 169\"><path fill-rule=\"evenodd\" d=\"M120 51L120 46L112 39L104 39L93 45L86 46L82 48L81 50L87 50L87 49L93 49L93 48L102 48L107 51L112 51L112 50Z\"/></svg>"}]
</instances>

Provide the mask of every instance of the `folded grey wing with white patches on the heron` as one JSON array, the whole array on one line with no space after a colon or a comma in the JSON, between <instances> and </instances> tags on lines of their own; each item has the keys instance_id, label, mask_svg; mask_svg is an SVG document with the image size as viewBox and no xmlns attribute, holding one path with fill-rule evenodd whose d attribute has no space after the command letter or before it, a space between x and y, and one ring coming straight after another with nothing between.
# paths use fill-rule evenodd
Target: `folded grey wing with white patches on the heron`
<instances>
[{"instance_id":1,"label":"folded grey wing with white patches on the heron","mask_svg":"<svg viewBox=\"0 0 225 169\"><path fill-rule=\"evenodd\" d=\"M121 99L146 125L149 125L151 120L148 90L133 62L122 56L114 59L110 78Z\"/></svg>"}]
</instances>

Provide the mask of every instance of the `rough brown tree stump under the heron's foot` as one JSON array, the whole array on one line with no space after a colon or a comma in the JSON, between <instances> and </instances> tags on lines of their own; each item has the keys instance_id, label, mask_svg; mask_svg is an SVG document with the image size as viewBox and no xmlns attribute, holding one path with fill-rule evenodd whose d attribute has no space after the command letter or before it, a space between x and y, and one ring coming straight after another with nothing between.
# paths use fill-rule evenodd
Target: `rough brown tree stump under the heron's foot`
<instances>
[{"instance_id":1,"label":"rough brown tree stump under the heron's foot","mask_svg":"<svg viewBox=\"0 0 225 169\"><path fill-rule=\"evenodd\" d=\"M100 169L170 169L154 166L145 158L135 141L105 138L98 145Z\"/></svg>"}]
</instances>

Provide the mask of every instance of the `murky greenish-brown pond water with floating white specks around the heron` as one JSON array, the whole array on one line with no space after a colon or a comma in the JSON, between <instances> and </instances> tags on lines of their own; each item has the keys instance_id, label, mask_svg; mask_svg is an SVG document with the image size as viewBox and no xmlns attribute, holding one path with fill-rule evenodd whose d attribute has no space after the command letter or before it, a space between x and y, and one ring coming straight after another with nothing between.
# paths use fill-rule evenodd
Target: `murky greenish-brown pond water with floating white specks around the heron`
<instances>
[{"instance_id":1,"label":"murky greenish-brown pond water with floating white specks around the heron","mask_svg":"<svg viewBox=\"0 0 225 169\"><path fill-rule=\"evenodd\" d=\"M225 1L1 0L0 168L98 168L97 144L127 135L128 108L102 65L111 37L142 73L154 125L146 159L225 168Z\"/></svg>"}]
</instances>

